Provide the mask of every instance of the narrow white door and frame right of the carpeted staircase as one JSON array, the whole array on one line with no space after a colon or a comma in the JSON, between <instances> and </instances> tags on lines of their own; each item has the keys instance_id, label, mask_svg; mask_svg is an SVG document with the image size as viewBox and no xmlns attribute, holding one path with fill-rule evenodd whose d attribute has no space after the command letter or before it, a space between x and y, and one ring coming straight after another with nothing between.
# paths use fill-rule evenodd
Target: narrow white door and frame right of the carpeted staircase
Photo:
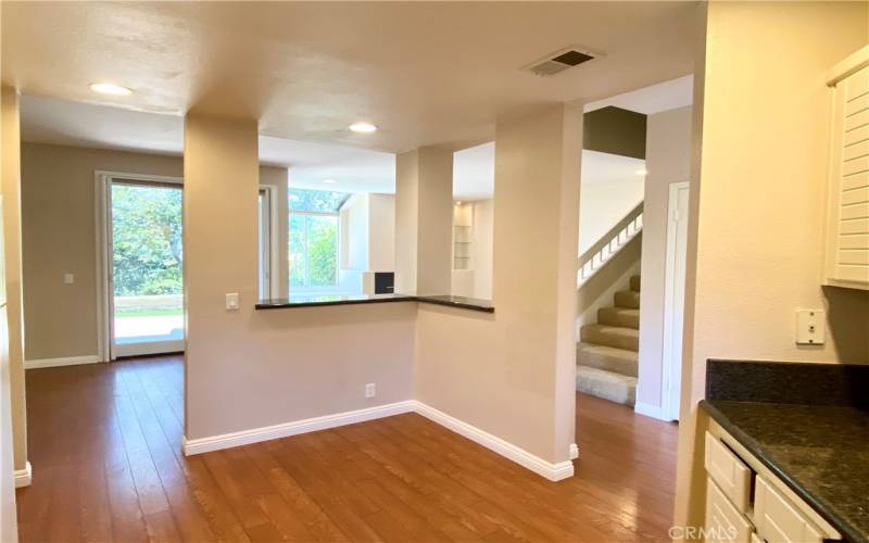
<instances>
[{"instance_id":1,"label":"narrow white door and frame right of the carpeted staircase","mask_svg":"<svg viewBox=\"0 0 869 543\"><path fill-rule=\"evenodd\" d=\"M676 353L681 353L682 330L673 327L673 317L679 307L676 307L676 298L681 289L682 300L684 300L685 286L676 283L676 239L679 223L688 220L688 217L678 216L679 190L688 189L688 181L671 182L669 186L669 199L667 204L667 254L665 260L665 280L664 280L664 343L662 348L662 387L660 387L660 411L665 420L679 420L679 407L681 391L675 383L681 382L682 361L675 359ZM685 248L682 248L685 250ZM684 306L681 307L684 312Z\"/></svg>"}]
</instances>

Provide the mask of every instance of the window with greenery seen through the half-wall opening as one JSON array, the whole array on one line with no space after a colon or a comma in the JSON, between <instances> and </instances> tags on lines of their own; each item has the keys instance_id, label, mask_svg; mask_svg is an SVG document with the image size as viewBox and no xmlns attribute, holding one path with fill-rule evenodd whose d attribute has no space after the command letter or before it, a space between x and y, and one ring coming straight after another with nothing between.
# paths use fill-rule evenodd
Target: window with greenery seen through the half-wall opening
<instances>
[{"instance_id":1,"label":"window with greenery seen through the half-wall opening","mask_svg":"<svg viewBox=\"0 0 869 543\"><path fill-rule=\"evenodd\" d=\"M289 191L291 290L338 286L338 211L349 197L325 190Z\"/></svg>"}]
</instances>

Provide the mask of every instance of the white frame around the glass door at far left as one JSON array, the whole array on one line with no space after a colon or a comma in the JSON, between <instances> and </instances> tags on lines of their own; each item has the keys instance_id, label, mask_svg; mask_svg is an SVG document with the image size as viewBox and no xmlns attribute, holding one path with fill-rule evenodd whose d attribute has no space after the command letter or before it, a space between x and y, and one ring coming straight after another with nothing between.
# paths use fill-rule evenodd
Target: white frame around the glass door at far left
<instances>
[{"instance_id":1,"label":"white frame around the glass door at far left","mask_svg":"<svg viewBox=\"0 0 869 543\"><path fill-rule=\"evenodd\" d=\"M184 185L184 179L180 177L127 174L100 169L93 173L97 227L97 354L100 357L100 362L114 359L112 354L114 296L112 295L111 285L112 273L109 267L112 265L112 214L109 213L109 209L112 205L111 189L114 179Z\"/></svg>"}]
</instances>

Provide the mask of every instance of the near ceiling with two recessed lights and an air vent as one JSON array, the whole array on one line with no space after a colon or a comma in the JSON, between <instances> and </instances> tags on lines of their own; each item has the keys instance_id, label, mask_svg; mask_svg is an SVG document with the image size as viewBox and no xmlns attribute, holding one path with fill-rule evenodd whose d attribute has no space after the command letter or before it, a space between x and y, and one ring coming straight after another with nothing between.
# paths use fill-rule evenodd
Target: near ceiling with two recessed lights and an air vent
<instances>
[{"instance_id":1,"label":"near ceiling with two recessed lights and an air vent","mask_svg":"<svg viewBox=\"0 0 869 543\"><path fill-rule=\"evenodd\" d=\"M2 77L34 96L257 118L297 141L463 149L505 115L692 73L698 4L4 2ZM550 78L520 70L570 45L603 55ZM88 89L103 80L135 93ZM347 130L363 119L380 130Z\"/></svg>"}]
</instances>

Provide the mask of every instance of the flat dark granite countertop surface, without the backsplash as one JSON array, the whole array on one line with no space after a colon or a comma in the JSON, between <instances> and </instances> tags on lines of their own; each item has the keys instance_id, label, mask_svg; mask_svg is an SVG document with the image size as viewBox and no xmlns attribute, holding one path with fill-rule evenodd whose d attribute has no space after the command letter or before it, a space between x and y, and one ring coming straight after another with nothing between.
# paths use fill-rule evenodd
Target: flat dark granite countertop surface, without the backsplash
<instances>
[{"instance_id":1,"label":"flat dark granite countertop surface, without the backsplash","mask_svg":"<svg viewBox=\"0 0 869 543\"><path fill-rule=\"evenodd\" d=\"M869 541L869 412L732 400L701 407L848 541Z\"/></svg>"}]
</instances>

